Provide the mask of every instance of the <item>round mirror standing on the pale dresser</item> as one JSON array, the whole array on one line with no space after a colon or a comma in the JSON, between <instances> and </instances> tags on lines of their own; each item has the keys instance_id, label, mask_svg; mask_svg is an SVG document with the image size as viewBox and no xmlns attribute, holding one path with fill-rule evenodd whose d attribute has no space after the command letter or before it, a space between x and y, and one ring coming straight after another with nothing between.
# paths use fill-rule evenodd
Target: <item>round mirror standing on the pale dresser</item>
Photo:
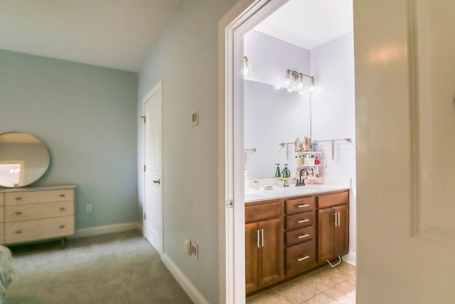
<instances>
[{"instance_id":1,"label":"round mirror standing on the pale dresser","mask_svg":"<svg viewBox=\"0 0 455 304\"><path fill-rule=\"evenodd\" d=\"M21 132L0 134L0 187L27 186L48 167L48 148L41 140Z\"/></svg>"}]
</instances>

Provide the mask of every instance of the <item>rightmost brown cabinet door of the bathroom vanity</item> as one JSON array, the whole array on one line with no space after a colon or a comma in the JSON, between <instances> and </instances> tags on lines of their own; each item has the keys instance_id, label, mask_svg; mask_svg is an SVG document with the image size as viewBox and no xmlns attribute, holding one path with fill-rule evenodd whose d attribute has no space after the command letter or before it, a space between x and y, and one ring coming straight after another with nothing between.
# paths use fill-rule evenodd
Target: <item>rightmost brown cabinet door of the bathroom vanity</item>
<instances>
[{"instance_id":1,"label":"rightmost brown cabinet door of the bathroom vanity","mask_svg":"<svg viewBox=\"0 0 455 304\"><path fill-rule=\"evenodd\" d=\"M335 207L337 216L333 231L333 257L343 256L349 251L349 209L348 205Z\"/></svg>"}]
</instances>

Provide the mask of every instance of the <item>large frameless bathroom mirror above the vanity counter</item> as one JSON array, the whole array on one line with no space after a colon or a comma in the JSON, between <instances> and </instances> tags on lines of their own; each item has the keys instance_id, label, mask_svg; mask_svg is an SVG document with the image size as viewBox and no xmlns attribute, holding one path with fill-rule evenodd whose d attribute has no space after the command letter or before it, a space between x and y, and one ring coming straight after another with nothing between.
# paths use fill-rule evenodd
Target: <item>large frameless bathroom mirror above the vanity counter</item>
<instances>
[{"instance_id":1,"label":"large frameless bathroom mirror above the vanity counter","mask_svg":"<svg viewBox=\"0 0 455 304\"><path fill-rule=\"evenodd\" d=\"M291 176L296 170L294 142L310 134L309 96L274 91L272 85L245 80L244 88L244 147L245 170L250 179L273 178L275 164L288 164ZM254 152L251 151L256 149Z\"/></svg>"}]
</instances>

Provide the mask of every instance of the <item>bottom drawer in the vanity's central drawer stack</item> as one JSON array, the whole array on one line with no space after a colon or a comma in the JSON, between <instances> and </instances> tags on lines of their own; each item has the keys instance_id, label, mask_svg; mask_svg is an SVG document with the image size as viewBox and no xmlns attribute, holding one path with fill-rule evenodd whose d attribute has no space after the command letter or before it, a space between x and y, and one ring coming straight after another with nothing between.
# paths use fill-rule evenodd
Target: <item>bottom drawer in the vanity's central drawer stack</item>
<instances>
[{"instance_id":1,"label":"bottom drawer in the vanity's central drawer stack","mask_svg":"<svg viewBox=\"0 0 455 304\"><path fill-rule=\"evenodd\" d=\"M314 266L314 241L286 248L286 276L293 276Z\"/></svg>"}]
</instances>

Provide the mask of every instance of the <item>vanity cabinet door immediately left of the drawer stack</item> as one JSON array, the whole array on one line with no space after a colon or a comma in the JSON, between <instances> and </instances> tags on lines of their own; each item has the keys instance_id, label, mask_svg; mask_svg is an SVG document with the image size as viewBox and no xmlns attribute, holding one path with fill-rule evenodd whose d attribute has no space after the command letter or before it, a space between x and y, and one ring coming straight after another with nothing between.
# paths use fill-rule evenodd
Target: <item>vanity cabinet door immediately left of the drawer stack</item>
<instances>
[{"instance_id":1,"label":"vanity cabinet door immediately left of the drawer stack","mask_svg":"<svg viewBox=\"0 0 455 304\"><path fill-rule=\"evenodd\" d=\"M258 258L258 281L259 286L262 286L281 280L284 273L282 220L260 221L259 233L261 246Z\"/></svg>"}]
</instances>

